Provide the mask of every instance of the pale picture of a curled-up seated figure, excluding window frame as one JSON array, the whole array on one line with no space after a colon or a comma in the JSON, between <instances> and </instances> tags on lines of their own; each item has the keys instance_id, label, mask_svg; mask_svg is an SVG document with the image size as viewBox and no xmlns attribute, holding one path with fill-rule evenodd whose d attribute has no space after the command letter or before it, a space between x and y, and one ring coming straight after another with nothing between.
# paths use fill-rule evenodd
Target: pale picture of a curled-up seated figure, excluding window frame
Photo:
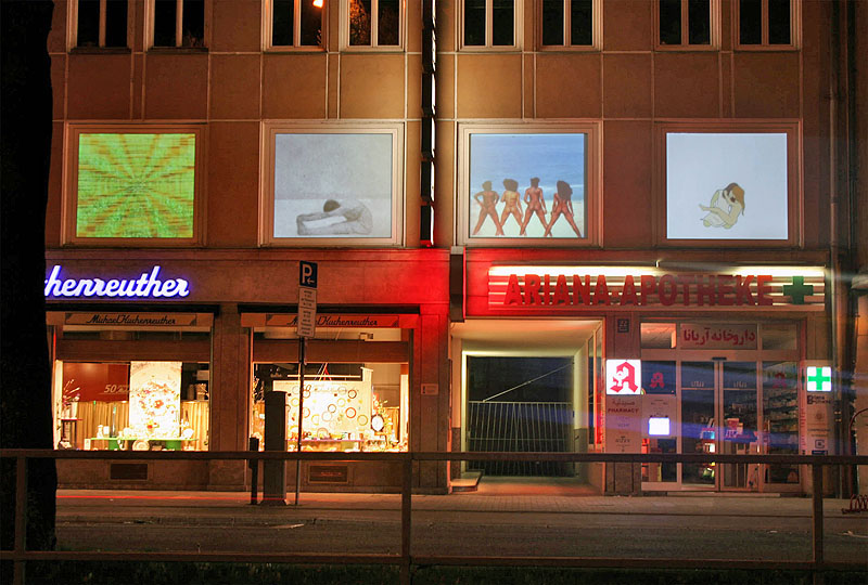
<instances>
[{"instance_id":1,"label":"pale picture of a curled-up seated figure, excluding window frame","mask_svg":"<svg viewBox=\"0 0 868 585\"><path fill-rule=\"evenodd\" d=\"M666 134L668 239L786 240L787 134Z\"/></svg>"}]
</instances>

